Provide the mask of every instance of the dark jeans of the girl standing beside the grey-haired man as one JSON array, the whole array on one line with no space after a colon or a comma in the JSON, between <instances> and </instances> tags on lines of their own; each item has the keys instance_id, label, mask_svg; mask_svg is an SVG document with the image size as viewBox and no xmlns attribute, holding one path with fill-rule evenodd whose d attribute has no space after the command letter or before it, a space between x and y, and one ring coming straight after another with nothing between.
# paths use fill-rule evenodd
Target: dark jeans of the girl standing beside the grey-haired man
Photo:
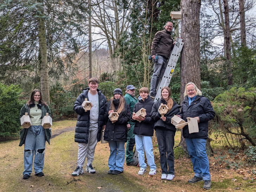
<instances>
[{"instance_id":1,"label":"dark jeans of the girl standing beside the grey-haired man","mask_svg":"<svg viewBox=\"0 0 256 192\"><path fill-rule=\"evenodd\" d=\"M158 142L158 149L160 153L160 165L162 174L174 175L174 136L175 132L172 130L155 129L156 139ZM167 171L167 165L169 167Z\"/></svg>"}]
</instances>

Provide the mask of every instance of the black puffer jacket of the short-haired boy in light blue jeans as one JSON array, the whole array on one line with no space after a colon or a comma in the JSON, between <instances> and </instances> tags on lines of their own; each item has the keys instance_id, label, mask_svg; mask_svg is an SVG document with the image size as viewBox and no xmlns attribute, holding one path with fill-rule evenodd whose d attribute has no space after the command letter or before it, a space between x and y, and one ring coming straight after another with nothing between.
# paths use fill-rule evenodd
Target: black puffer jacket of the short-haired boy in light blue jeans
<instances>
[{"instance_id":1,"label":"black puffer jacket of the short-haired boy in light blue jeans","mask_svg":"<svg viewBox=\"0 0 256 192\"><path fill-rule=\"evenodd\" d=\"M136 135L146 135L153 136L154 135L154 120L150 117L150 113L152 110L154 102L152 98L148 96L145 101L142 99L139 100L134 106L133 112L137 113L141 108L146 109L146 116L144 121L133 120L131 117L131 121L135 122L135 126L133 129L133 133Z\"/></svg>"}]
</instances>

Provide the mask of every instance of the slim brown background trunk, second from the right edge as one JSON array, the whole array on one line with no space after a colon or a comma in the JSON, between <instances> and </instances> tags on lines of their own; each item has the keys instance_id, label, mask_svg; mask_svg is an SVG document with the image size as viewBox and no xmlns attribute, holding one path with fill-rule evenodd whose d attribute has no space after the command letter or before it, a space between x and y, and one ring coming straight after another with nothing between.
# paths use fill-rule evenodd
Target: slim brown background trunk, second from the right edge
<instances>
[{"instance_id":1,"label":"slim brown background trunk, second from the right edge","mask_svg":"<svg viewBox=\"0 0 256 192\"><path fill-rule=\"evenodd\" d=\"M231 41L230 41L228 0L223 0L223 4L224 4L224 16L225 16L227 78L228 78L228 85L232 85L233 84L233 77L232 77L232 63L231 63Z\"/></svg>"}]
</instances>

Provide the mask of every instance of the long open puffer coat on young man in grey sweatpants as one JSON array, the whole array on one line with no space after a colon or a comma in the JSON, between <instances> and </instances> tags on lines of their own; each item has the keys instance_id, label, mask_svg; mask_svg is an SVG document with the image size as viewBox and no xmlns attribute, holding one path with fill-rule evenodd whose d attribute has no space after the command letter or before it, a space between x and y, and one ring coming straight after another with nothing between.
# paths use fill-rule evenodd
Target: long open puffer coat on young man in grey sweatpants
<instances>
[{"instance_id":1,"label":"long open puffer coat on young man in grey sweatpants","mask_svg":"<svg viewBox=\"0 0 256 192\"><path fill-rule=\"evenodd\" d=\"M77 123L76 123L76 131L75 131L75 142L78 143L88 143L89 139L89 130L90 130L90 111L84 111L82 103L84 102L84 98L88 98L88 92L90 88L83 89L83 92L77 97L76 102L74 104L74 110L76 111L77 115ZM101 131L103 125L105 125L104 121L104 114L107 111L107 99L101 93L99 89L98 96L99 96L99 116L98 116L98 134L97 134L97 141L101 140Z\"/></svg>"}]
</instances>

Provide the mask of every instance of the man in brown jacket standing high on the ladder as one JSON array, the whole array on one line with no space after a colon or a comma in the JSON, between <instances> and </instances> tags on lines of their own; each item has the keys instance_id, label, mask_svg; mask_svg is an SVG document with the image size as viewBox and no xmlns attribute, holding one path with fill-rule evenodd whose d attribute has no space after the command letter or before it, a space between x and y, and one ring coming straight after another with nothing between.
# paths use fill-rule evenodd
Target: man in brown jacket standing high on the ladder
<instances>
[{"instance_id":1,"label":"man in brown jacket standing high on the ladder","mask_svg":"<svg viewBox=\"0 0 256 192\"><path fill-rule=\"evenodd\" d=\"M156 96L156 88L158 87L160 79L165 73L167 60L175 44L172 38L172 28L172 22L167 22L165 24L165 29L156 32L152 41L151 57L154 61L154 72L152 75L151 89L149 92L149 96L152 98L155 98Z\"/></svg>"}]
</instances>

